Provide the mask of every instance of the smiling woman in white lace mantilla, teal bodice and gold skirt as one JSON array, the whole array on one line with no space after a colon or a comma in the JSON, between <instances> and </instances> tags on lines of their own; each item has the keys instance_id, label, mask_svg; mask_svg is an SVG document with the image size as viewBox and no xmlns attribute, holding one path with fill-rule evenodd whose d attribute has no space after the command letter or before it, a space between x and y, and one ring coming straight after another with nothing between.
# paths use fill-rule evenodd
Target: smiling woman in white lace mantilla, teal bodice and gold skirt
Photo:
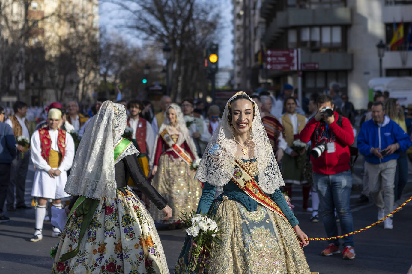
<instances>
[{"instance_id":1,"label":"smiling woman in white lace mantilla, teal bodice and gold skirt","mask_svg":"<svg viewBox=\"0 0 412 274\"><path fill-rule=\"evenodd\" d=\"M303 254L307 235L279 190L284 182L255 102L237 92L199 163L204 182L197 213L218 221L222 244L212 243L187 269L186 236L174 273L311 273ZM223 193L215 199L216 188Z\"/></svg>"}]
</instances>

